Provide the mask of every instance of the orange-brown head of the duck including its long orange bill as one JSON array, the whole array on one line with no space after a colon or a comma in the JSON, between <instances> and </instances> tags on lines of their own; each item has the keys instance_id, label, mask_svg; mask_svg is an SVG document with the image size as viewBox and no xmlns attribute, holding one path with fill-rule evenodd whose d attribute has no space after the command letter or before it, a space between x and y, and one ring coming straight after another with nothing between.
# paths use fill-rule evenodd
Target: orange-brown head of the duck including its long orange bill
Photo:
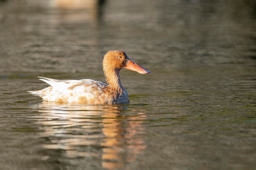
<instances>
[{"instance_id":1,"label":"orange-brown head of the duck including its long orange bill","mask_svg":"<svg viewBox=\"0 0 256 170\"><path fill-rule=\"evenodd\" d=\"M150 71L130 60L124 51L108 51L103 59L104 72L119 71L122 68L137 71L140 74L150 74Z\"/></svg>"}]
</instances>

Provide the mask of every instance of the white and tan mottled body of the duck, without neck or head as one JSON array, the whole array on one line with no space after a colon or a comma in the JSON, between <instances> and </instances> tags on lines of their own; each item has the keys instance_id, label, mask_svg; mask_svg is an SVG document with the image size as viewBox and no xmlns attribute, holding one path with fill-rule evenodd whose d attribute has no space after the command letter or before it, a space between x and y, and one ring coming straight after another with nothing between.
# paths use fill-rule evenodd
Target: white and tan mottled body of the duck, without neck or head
<instances>
[{"instance_id":1,"label":"white and tan mottled body of the duck, without neck or head","mask_svg":"<svg viewBox=\"0 0 256 170\"><path fill-rule=\"evenodd\" d=\"M51 85L39 91L29 91L49 102L76 104L128 104L129 96L124 88L111 86L92 79L58 80L39 77Z\"/></svg>"}]
</instances>

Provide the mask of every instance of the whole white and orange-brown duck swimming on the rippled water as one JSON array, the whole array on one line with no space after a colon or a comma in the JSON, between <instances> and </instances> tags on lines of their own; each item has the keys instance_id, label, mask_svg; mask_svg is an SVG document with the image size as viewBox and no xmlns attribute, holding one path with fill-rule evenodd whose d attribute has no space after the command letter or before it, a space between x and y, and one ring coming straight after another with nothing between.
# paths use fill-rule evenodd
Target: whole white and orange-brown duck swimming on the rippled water
<instances>
[{"instance_id":1,"label":"whole white and orange-brown duck swimming on the rippled water","mask_svg":"<svg viewBox=\"0 0 256 170\"><path fill-rule=\"evenodd\" d=\"M103 71L107 84L92 79L59 80L39 77L50 86L27 91L48 102L75 104L129 104L128 92L121 84L119 72L126 68L140 74L150 71L128 58L124 51L108 51L103 57Z\"/></svg>"}]
</instances>

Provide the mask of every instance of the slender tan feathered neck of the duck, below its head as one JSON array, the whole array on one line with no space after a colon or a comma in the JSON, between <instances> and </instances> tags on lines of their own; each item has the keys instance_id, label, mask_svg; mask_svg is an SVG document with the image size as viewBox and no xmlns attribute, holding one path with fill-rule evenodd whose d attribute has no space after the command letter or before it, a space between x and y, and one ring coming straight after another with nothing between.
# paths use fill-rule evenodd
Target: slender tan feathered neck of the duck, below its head
<instances>
[{"instance_id":1,"label":"slender tan feathered neck of the duck, below its head","mask_svg":"<svg viewBox=\"0 0 256 170\"><path fill-rule=\"evenodd\" d=\"M119 72L120 69L114 69L109 71L108 73L105 73L106 81L108 82L109 86L111 86L115 90L123 89Z\"/></svg>"}]
</instances>

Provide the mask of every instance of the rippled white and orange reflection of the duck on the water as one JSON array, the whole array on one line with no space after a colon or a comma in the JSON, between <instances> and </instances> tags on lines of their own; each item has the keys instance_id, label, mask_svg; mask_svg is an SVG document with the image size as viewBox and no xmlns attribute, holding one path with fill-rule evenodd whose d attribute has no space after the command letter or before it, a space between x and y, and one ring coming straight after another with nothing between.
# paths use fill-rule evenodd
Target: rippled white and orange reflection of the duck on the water
<instances>
[{"instance_id":1,"label":"rippled white and orange reflection of the duck on the water","mask_svg":"<svg viewBox=\"0 0 256 170\"><path fill-rule=\"evenodd\" d=\"M144 132L144 113L126 117L122 106L45 101L33 108L40 112L34 117L41 124L40 136L47 139L41 146L54 155L45 161L56 158L65 166L72 160L81 167L101 164L103 168L121 168L146 148L144 138L138 135Z\"/></svg>"}]
</instances>

